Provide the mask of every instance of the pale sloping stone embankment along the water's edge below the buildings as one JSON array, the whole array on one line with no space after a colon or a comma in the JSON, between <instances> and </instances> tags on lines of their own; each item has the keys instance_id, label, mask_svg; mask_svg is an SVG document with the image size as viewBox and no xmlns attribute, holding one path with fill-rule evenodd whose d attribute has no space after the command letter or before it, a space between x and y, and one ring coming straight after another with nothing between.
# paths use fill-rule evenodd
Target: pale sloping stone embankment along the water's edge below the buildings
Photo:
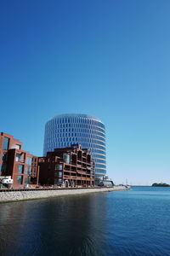
<instances>
[{"instance_id":1,"label":"pale sloping stone embankment along the water's edge below the buildings","mask_svg":"<svg viewBox=\"0 0 170 256\"><path fill-rule=\"evenodd\" d=\"M127 189L125 186L113 188L71 188L71 189L0 189L0 202L23 201L48 198L59 195L82 195L96 192L111 192Z\"/></svg>"}]
</instances>

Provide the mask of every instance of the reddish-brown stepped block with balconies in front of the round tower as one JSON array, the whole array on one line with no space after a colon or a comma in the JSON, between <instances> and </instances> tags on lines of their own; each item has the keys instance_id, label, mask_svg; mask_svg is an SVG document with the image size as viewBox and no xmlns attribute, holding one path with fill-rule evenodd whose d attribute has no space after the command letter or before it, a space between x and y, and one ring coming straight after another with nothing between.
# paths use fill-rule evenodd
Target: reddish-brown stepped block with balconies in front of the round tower
<instances>
[{"instance_id":1,"label":"reddish-brown stepped block with balconies in front of the round tower","mask_svg":"<svg viewBox=\"0 0 170 256\"><path fill-rule=\"evenodd\" d=\"M94 160L87 148L73 144L38 158L39 183L65 187L94 186Z\"/></svg>"}]
</instances>

